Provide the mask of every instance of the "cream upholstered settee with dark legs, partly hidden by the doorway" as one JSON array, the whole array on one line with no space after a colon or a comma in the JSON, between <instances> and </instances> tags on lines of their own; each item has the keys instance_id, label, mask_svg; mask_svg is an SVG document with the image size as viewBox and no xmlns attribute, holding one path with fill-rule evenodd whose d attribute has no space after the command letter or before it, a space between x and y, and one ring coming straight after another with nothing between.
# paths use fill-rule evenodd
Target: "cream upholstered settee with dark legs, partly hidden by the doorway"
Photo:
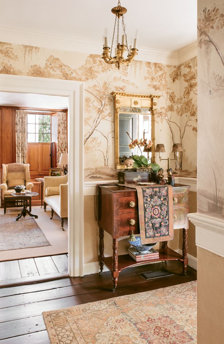
<instances>
[{"instance_id":1,"label":"cream upholstered settee with dark legs, partly hidden by the doorway","mask_svg":"<svg viewBox=\"0 0 224 344\"><path fill-rule=\"evenodd\" d=\"M44 177L44 211L51 207L51 219L54 211L61 218L61 228L64 230L64 218L68 217L68 175L60 177Z\"/></svg>"}]
</instances>

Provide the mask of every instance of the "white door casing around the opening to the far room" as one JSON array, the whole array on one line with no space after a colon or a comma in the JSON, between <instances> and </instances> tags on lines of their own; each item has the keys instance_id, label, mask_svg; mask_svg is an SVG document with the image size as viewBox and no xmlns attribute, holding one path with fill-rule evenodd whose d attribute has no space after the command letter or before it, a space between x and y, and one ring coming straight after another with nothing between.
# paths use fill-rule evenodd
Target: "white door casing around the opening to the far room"
<instances>
[{"instance_id":1,"label":"white door casing around the opening to the far room","mask_svg":"<svg viewBox=\"0 0 224 344\"><path fill-rule=\"evenodd\" d=\"M0 74L0 91L66 96L69 99L68 271L69 276L83 276L83 83Z\"/></svg>"}]
</instances>

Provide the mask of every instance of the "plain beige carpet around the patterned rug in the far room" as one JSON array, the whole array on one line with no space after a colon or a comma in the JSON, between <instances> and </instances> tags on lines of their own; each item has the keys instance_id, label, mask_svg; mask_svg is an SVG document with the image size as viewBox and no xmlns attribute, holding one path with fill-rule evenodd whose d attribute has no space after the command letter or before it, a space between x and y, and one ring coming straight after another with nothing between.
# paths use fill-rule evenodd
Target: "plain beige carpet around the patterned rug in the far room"
<instances>
[{"instance_id":1,"label":"plain beige carpet around the patterned rug in the far room","mask_svg":"<svg viewBox=\"0 0 224 344\"><path fill-rule=\"evenodd\" d=\"M19 208L9 208L6 211L6 214L19 214L18 210ZM3 209L1 208L0 214L3 213ZM68 220L65 219L64 221L65 231L63 232L63 230L61 230L60 217L56 213L54 213L53 219L50 219L50 207L47 206L47 211L44 212L43 207L41 208L40 206L32 206L32 214L38 216L38 218L35 219L35 221L37 225L41 228L47 240L51 243L52 246L0 251L0 261L51 256L68 252ZM21 223L25 218L22 217L19 221L15 222Z\"/></svg>"}]
</instances>

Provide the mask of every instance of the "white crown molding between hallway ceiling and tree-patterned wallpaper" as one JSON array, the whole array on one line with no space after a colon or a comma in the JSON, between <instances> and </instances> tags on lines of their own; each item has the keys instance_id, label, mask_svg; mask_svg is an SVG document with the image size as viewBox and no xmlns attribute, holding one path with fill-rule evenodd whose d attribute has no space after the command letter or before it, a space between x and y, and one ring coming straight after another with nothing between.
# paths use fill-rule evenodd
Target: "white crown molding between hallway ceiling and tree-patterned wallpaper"
<instances>
[{"instance_id":1,"label":"white crown molding between hallway ceiling and tree-patterned wallpaper","mask_svg":"<svg viewBox=\"0 0 224 344\"><path fill-rule=\"evenodd\" d=\"M102 53L102 42L0 26L0 41L86 54ZM178 65L197 55L197 42L178 51L139 47L135 60Z\"/></svg>"}]
</instances>

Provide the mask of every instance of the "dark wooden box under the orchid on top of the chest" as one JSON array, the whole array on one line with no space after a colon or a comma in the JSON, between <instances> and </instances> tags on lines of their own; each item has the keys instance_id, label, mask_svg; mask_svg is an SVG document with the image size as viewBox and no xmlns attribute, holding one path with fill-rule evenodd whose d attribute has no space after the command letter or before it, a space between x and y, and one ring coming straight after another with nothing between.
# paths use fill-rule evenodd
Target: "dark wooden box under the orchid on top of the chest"
<instances>
[{"instance_id":1,"label":"dark wooden box under the orchid on top of the chest","mask_svg":"<svg viewBox=\"0 0 224 344\"><path fill-rule=\"evenodd\" d=\"M127 171L119 171L118 172L118 180L120 184L133 184L135 183L137 178L138 182L156 182L156 173L151 172L131 172L130 170Z\"/></svg>"}]
</instances>

